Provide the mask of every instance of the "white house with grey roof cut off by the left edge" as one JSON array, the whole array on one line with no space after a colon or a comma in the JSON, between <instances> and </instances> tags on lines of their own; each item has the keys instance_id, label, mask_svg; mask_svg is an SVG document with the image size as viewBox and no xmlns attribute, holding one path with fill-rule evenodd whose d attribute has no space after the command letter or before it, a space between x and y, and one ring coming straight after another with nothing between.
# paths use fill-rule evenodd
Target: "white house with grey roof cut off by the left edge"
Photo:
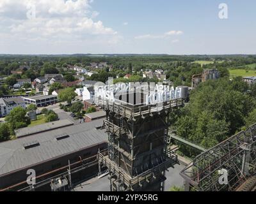
<instances>
[{"instance_id":1,"label":"white house with grey roof cut off by the left edge","mask_svg":"<svg viewBox=\"0 0 256 204\"><path fill-rule=\"evenodd\" d=\"M0 98L0 117L8 115L13 108L20 106L26 108L24 99L20 96L12 98Z\"/></svg>"}]
</instances>

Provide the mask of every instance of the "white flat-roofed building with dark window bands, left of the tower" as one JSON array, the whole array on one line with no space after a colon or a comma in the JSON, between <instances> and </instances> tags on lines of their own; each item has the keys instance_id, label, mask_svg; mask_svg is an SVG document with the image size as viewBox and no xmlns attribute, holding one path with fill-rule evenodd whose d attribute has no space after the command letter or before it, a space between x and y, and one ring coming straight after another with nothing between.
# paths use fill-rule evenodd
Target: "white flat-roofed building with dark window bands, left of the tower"
<instances>
[{"instance_id":1,"label":"white flat-roofed building with dark window bands, left of the tower","mask_svg":"<svg viewBox=\"0 0 256 204\"><path fill-rule=\"evenodd\" d=\"M53 105L54 103L58 103L58 96L49 95L36 95L23 97L26 105L34 104L38 107Z\"/></svg>"}]
</instances>

